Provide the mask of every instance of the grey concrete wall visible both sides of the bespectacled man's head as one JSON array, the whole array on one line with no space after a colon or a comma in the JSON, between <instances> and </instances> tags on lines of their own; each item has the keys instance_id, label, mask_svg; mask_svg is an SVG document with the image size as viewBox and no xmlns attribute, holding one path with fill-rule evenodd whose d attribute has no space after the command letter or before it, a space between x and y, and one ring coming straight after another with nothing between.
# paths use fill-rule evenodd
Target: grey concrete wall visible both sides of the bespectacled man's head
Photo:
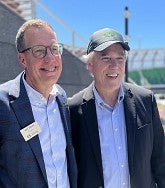
<instances>
[{"instance_id":1,"label":"grey concrete wall visible both sides of the bespectacled man's head","mask_svg":"<svg viewBox=\"0 0 165 188\"><path fill-rule=\"evenodd\" d=\"M15 36L20 25L24 23L20 16L0 2L0 83L15 78L22 68L17 60ZM92 78L85 64L64 49L63 72L59 84L68 96L86 87Z\"/></svg>"}]
</instances>

